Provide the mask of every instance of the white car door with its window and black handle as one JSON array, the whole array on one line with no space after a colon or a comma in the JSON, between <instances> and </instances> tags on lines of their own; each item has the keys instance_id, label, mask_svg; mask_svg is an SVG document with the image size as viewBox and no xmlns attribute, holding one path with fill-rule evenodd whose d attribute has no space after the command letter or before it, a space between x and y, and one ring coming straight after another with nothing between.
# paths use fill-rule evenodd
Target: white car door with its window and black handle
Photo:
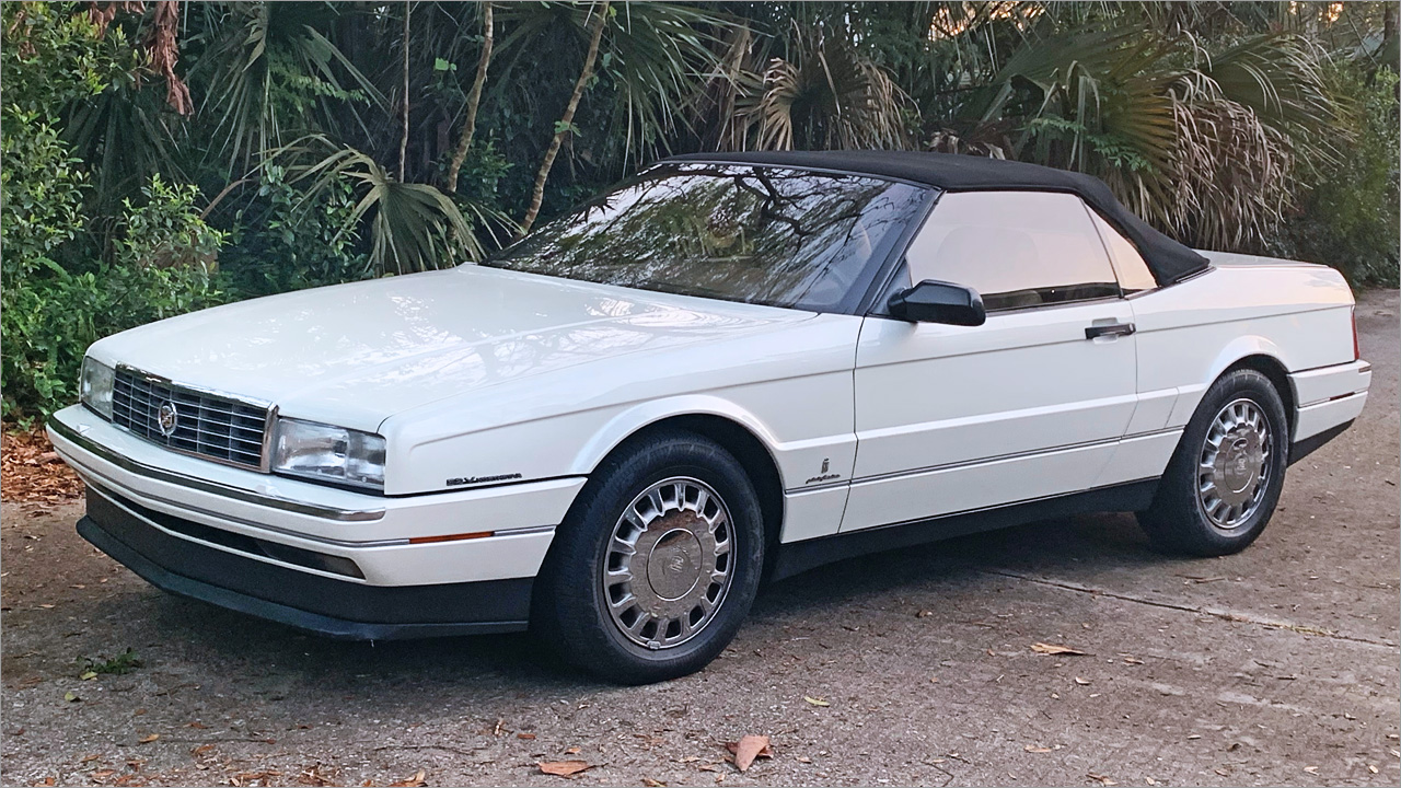
<instances>
[{"instance_id":1,"label":"white car door with its window and black handle","mask_svg":"<svg viewBox=\"0 0 1401 788\"><path fill-rule=\"evenodd\" d=\"M925 279L976 289L988 318L866 318L842 531L1090 488L1136 402L1132 310L1090 209L1069 193L946 193L892 287Z\"/></svg>"}]
</instances>

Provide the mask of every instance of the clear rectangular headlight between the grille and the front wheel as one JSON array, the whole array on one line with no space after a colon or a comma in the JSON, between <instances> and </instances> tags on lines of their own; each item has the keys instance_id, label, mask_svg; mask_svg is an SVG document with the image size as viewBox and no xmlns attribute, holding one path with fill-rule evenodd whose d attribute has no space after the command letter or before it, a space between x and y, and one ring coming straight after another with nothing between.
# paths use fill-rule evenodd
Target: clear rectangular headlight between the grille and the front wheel
<instances>
[{"instance_id":1,"label":"clear rectangular headlight between the grille and the front wheel","mask_svg":"<svg viewBox=\"0 0 1401 788\"><path fill-rule=\"evenodd\" d=\"M273 473L384 489L384 437L297 419L277 421Z\"/></svg>"}]
</instances>

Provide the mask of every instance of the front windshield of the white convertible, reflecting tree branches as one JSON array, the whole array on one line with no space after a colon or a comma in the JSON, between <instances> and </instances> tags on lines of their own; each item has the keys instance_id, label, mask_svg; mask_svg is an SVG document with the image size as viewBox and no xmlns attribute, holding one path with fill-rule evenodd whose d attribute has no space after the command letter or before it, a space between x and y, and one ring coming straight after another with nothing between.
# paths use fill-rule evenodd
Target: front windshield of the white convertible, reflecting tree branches
<instances>
[{"instance_id":1,"label":"front windshield of the white convertible, reflecting tree branches","mask_svg":"<svg viewBox=\"0 0 1401 788\"><path fill-rule=\"evenodd\" d=\"M483 265L663 293L842 311L927 189L743 164L663 164Z\"/></svg>"}]
</instances>

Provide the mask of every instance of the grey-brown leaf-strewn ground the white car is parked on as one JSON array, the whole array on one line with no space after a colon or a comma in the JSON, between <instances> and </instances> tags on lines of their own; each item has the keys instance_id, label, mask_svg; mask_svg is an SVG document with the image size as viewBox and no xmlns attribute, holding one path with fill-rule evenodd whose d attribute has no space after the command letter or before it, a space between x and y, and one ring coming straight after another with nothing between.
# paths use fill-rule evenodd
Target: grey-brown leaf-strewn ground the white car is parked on
<instances>
[{"instance_id":1,"label":"grey-brown leaf-strewn ground the white car is parked on","mask_svg":"<svg viewBox=\"0 0 1401 788\"><path fill-rule=\"evenodd\" d=\"M1397 314L1362 299L1367 408L1244 554L1166 558L1096 516L848 561L651 687L524 635L307 637L151 589L74 534L81 503L6 505L3 781L565 785L537 761L583 760L569 781L1397 785ZM740 774L747 733L775 754Z\"/></svg>"}]
</instances>

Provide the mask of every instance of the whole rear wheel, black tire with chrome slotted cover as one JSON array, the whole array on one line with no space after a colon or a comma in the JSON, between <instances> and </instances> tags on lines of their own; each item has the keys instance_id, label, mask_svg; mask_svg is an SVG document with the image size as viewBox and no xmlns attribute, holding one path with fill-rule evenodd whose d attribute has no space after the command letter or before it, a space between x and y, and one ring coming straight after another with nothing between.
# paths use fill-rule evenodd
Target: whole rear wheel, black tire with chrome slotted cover
<instances>
[{"instance_id":1,"label":"whole rear wheel, black tire with chrome slotted cover","mask_svg":"<svg viewBox=\"0 0 1401 788\"><path fill-rule=\"evenodd\" d=\"M1285 484L1285 405L1264 374L1243 369L1206 391L1138 519L1154 545L1191 555L1227 555L1269 523Z\"/></svg>"}]
</instances>

